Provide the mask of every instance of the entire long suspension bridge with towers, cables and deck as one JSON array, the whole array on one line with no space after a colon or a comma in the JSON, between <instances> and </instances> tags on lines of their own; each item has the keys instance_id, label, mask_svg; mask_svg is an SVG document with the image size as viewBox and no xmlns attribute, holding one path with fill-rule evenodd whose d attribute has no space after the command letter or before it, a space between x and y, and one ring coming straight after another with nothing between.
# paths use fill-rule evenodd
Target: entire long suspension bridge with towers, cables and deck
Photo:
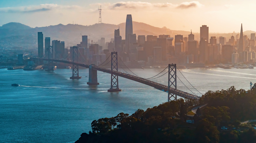
<instances>
[{"instance_id":1,"label":"entire long suspension bridge with towers, cables and deck","mask_svg":"<svg viewBox=\"0 0 256 143\"><path fill-rule=\"evenodd\" d=\"M54 51L52 50L52 53L53 52ZM80 57L78 56L78 53L80 53L80 51L77 48L77 46L73 46L72 61L67 61L64 59L53 59L53 56L52 58L50 56L48 56L48 58L31 58L31 60L49 61L49 65L51 66L53 66L53 62L72 64L73 72L72 76L70 77L71 79L81 78L81 76L79 76L79 66L89 68L89 81L87 82L88 85L99 84L97 80L97 71L109 73L111 74L111 87L108 90L109 92L121 91L118 85L118 76L120 76L129 80L133 80L154 87L163 92L167 92L168 102L171 100L177 100L177 96L187 99L199 99L200 96L202 96L202 93L200 93L195 87L193 87L189 83L189 81L184 77L184 75L178 69L176 64L168 64L168 66L166 66L164 70L162 70L155 76L142 78L141 76L135 74L131 69L129 69L125 65L125 63L122 61L122 58L118 56L117 52L111 52L111 55L108 56L108 58L98 66L94 64L79 63L78 59Z\"/></svg>"}]
</instances>

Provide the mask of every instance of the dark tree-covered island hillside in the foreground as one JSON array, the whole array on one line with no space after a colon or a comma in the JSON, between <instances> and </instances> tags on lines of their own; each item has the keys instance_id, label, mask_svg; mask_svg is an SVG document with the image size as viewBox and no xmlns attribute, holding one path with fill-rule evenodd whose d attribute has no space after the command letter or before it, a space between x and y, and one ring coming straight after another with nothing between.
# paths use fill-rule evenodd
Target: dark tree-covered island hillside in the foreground
<instances>
[{"instance_id":1,"label":"dark tree-covered island hillside in the foreground","mask_svg":"<svg viewBox=\"0 0 256 143\"><path fill-rule=\"evenodd\" d=\"M192 108L199 107L194 114ZM179 99L130 115L92 122L75 143L256 142L256 88L208 91L199 100ZM255 120L244 123L243 121Z\"/></svg>"}]
</instances>

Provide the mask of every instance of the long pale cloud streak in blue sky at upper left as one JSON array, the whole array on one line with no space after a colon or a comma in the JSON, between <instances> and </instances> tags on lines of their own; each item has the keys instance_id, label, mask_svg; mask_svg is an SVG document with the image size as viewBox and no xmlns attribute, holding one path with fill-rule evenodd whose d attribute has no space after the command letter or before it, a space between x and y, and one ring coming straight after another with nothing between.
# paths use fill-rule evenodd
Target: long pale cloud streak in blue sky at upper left
<instances>
[{"instance_id":1,"label":"long pale cloud streak in blue sky at upper left","mask_svg":"<svg viewBox=\"0 0 256 143\"><path fill-rule=\"evenodd\" d=\"M39 6L26 6L26 7L8 7L8 8L0 8L0 12L8 12L8 13L32 13L32 12L41 12L41 11L49 11L53 9L75 9L80 8L80 6L63 6L57 4L41 4Z\"/></svg>"}]
</instances>

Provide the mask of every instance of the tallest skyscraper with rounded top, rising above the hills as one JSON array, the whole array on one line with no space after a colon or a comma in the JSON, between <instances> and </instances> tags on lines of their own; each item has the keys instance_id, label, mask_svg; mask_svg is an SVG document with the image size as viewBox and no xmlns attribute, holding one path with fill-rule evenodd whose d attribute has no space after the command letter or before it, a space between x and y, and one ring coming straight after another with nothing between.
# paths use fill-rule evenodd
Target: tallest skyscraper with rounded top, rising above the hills
<instances>
[{"instance_id":1,"label":"tallest skyscraper with rounded top, rising above the hills","mask_svg":"<svg viewBox=\"0 0 256 143\"><path fill-rule=\"evenodd\" d=\"M127 14L125 23L125 52L129 53L129 34L133 34L132 15Z\"/></svg>"}]
</instances>

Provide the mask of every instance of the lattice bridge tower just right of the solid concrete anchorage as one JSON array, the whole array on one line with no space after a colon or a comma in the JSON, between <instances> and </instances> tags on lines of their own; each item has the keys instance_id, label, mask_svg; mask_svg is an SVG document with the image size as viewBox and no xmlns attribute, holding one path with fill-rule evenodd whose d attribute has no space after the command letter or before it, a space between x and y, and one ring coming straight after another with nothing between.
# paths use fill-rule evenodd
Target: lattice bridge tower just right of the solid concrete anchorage
<instances>
[{"instance_id":1,"label":"lattice bridge tower just right of the solid concrete anchorage","mask_svg":"<svg viewBox=\"0 0 256 143\"><path fill-rule=\"evenodd\" d=\"M113 74L113 71L118 71L117 52L111 52L111 87L108 92L121 91L118 87L118 76Z\"/></svg>"}]
</instances>

